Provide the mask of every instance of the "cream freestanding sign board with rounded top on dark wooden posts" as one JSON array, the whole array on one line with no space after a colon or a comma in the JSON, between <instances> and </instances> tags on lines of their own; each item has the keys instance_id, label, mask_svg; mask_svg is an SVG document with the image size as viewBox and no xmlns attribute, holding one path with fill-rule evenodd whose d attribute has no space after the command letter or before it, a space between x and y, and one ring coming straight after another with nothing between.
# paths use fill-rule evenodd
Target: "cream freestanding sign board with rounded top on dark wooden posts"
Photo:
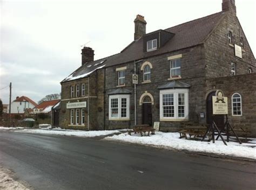
<instances>
[{"instance_id":1,"label":"cream freestanding sign board with rounded top on dark wooden posts","mask_svg":"<svg viewBox=\"0 0 256 190\"><path fill-rule=\"evenodd\" d=\"M222 90L217 90L215 96L212 96L212 114L227 114L227 97L224 97Z\"/></svg>"}]
</instances>

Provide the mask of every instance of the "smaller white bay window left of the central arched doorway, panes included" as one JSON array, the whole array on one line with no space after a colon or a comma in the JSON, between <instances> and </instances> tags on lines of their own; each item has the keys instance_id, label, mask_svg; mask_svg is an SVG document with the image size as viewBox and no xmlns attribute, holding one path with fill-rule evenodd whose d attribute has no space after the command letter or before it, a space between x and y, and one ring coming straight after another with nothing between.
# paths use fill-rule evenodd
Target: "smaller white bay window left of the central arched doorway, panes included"
<instances>
[{"instance_id":1,"label":"smaller white bay window left of the central arched doorway, panes included","mask_svg":"<svg viewBox=\"0 0 256 190\"><path fill-rule=\"evenodd\" d=\"M130 119L130 95L109 96L109 120Z\"/></svg>"}]
</instances>

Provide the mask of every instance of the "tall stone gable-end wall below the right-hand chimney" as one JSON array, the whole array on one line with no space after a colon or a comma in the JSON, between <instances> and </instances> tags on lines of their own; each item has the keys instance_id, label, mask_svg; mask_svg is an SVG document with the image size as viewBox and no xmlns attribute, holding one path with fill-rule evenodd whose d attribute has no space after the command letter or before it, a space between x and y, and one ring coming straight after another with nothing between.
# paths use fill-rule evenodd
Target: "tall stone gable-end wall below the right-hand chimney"
<instances>
[{"instance_id":1,"label":"tall stone gable-end wall below the right-hand chimney","mask_svg":"<svg viewBox=\"0 0 256 190\"><path fill-rule=\"evenodd\" d=\"M237 75L248 73L248 68L256 72L256 63L250 45L242 31L238 18L232 12L225 12L225 17L205 42L205 65L207 78L231 76L231 62L237 65ZM228 41L228 31L232 32L232 44ZM234 44L240 46L243 38L242 59L235 57Z\"/></svg>"}]
</instances>

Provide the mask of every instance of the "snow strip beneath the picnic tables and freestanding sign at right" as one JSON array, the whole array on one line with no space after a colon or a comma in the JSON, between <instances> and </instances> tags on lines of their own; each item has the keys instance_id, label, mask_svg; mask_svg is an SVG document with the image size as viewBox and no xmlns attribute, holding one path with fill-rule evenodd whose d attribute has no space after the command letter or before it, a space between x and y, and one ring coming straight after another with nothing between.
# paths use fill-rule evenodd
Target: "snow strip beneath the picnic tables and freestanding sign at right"
<instances>
[{"instance_id":1,"label":"snow strip beneath the picnic tables and freestanding sign at right","mask_svg":"<svg viewBox=\"0 0 256 190\"><path fill-rule=\"evenodd\" d=\"M132 133L131 136L128 135L128 133L122 133L120 135L114 135L104 139L137 143L142 145L151 145L155 147L163 147L166 149L207 152L227 156L256 159L255 144L239 144L237 142L228 142L226 146L221 140L215 140L215 144L212 142L201 142L198 140L186 140L184 138L180 139L178 132L156 132L156 135L143 137L134 133Z\"/></svg>"}]
</instances>

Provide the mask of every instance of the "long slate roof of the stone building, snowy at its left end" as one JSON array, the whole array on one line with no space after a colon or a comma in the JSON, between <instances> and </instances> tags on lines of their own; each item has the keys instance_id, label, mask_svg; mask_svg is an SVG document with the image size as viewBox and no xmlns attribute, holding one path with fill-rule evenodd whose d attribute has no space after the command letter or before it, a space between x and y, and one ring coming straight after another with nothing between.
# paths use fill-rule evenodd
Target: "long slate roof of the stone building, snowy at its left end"
<instances>
[{"instance_id":1,"label":"long slate roof of the stone building, snowy at its left end","mask_svg":"<svg viewBox=\"0 0 256 190\"><path fill-rule=\"evenodd\" d=\"M96 64L101 61L104 61L101 68L110 67L123 64L125 62L145 59L154 55L173 52L182 48L202 44L204 43L204 40L207 39L210 33L214 30L215 26L217 26L220 20L225 16L225 14L225 12L218 12L213 15L209 15L165 29L165 31L174 33L175 35L163 47L155 51L143 52L143 38L132 41L131 44L125 47L124 50L118 54L114 54L110 57L106 57L96 61L91 61L86 65L80 66L75 72L73 72L68 78L64 79L62 82L89 76L90 73L96 71L97 69L100 69L99 65ZM91 65L91 67L87 67L89 65Z\"/></svg>"}]
</instances>

